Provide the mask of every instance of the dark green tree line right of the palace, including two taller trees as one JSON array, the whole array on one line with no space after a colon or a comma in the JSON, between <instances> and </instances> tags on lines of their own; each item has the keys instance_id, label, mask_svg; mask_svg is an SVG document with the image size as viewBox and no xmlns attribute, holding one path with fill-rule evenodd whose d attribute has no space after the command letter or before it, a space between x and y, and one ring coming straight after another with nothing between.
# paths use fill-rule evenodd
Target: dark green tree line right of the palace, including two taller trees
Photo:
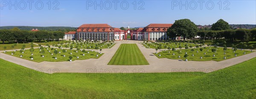
<instances>
[{"instance_id":1,"label":"dark green tree line right of the palace, including two taller trees","mask_svg":"<svg viewBox=\"0 0 256 99\"><path fill-rule=\"evenodd\" d=\"M212 24L209 30L198 29L194 22L189 19L176 20L172 27L167 29L167 34L170 38L176 38L177 36L194 39L195 36L200 36L201 40L205 39L220 39L225 38L233 42L238 39L240 41L251 41L253 38L256 39L256 28L253 29L236 29L231 30L228 22L223 19L219 19L217 22Z\"/></svg>"}]
</instances>

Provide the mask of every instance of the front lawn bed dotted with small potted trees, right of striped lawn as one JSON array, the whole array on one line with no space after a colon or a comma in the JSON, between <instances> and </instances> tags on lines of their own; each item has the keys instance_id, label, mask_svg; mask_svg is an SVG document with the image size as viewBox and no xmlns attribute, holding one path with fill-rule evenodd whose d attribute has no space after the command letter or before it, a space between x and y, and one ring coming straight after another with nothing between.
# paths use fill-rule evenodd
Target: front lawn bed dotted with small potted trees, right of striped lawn
<instances>
[{"instance_id":1,"label":"front lawn bed dotted with small potted trees, right of striped lawn","mask_svg":"<svg viewBox=\"0 0 256 99\"><path fill-rule=\"evenodd\" d=\"M209 61L209 60L221 61L221 60L227 60L227 59L230 59L230 58L235 58L235 57L244 55L244 52L246 54L251 53L251 51L236 50L235 52L233 52L232 49L227 49L226 55L225 55L226 59L224 59L224 50L223 50L223 48L221 48L221 47L217 48L218 50L215 53L215 57L213 57L212 49L209 49L209 51L207 51L208 47L205 47L205 48L206 49L204 49L202 52L199 50L200 48L196 48L196 49L192 48L192 49L195 50L194 51L194 56L192 56L193 52L191 51L191 49L187 49L187 50L182 49L181 54L180 54L180 58L178 58L178 56L179 56L178 51L180 51L178 49L174 51L175 55L172 55L173 54L172 50L170 50L170 53L169 53L169 50L166 50L166 51L161 51L160 53L157 53L157 54L154 53L154 55L156 55L157 58L169 58L169 59L181 59L181 60L188 59L188 60L193 60L193 61ZM187 55L188 55L187 58L183 57L185 55L185 52L187 52ZM204 55L204 52L206 52L206 55ZM159 56L159 54L161 56ZM235 54L237 56L235 56ZM203 57L202 59L200 59L201 56Z\"/></svg>"}]
</instances>

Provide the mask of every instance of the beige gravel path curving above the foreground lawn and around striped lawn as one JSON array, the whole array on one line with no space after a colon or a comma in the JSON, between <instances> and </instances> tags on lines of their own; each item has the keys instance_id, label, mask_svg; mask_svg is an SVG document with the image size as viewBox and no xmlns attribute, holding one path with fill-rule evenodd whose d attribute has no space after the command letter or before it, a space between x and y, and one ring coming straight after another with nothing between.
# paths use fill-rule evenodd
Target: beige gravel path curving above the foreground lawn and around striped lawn
<instances>
[{"instance_id":1,"label":"beige gravel path curving above the foreground lawn and around striped lawn","mask_svg":"<svg viewBox=\"0 0 256 99\"><path fill-rule=\"evenodd\" d=\"M116 50L122 43L136 43L150 65L142 66L118 66L107 65L111 60ZM0 51L0 58L19 64L21 66L34 69L45 73L56 72L72 72L72 73L158 73L158 72L212 72L219 69L224 69L229 66L250 60L256 57L256 52L247 55L242 55L236 58L216 61L183 61L172 60L167 58L157 58L152 52L154 49L147 49L142 44L142 41L116 41L116 44L111 49L103 49L105 53L99 59L75 60L72 62L33 62L24 60L11 55L6 55ZM29 49L29 48L28 48ZM125 56L124 56L125 57ZM129 60L129 59L127 59ZM255 65L255 64L254 64ZM49 71L50 70L50 71Z\"/></svg>"}]
</instances>

